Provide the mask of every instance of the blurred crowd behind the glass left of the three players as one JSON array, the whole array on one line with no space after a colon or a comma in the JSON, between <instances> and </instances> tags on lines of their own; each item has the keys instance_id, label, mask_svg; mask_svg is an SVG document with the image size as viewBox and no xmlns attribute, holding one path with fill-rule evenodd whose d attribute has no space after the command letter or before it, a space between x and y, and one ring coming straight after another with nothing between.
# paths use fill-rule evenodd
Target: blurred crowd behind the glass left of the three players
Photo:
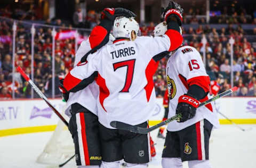
<instances>
[{"instance_id":1,"label":"blurred crowd behind the glass left of the three players","mask_svg":"<svg viewBox=\"0 0 256 168\"><path fill-rule=\"evenodd\" d=\"M30 98L31 88L18 72L12 73L12 24L0 22L0 97ZM70 33L67 29L57 29L58 33ZM56 37L57 37L56 36ZM34 82L48 97L52 97L52 28L39 27L34 38ZM60 97L59 77L73 68L75 38L55 38L55 96ZM15 38L15 67L20 66L31 78L31 33L30 28L17 24ZM12 87L12 77L15 86ZM38 97L35 94L35 97Z\"/></svg>"}]
</instances>

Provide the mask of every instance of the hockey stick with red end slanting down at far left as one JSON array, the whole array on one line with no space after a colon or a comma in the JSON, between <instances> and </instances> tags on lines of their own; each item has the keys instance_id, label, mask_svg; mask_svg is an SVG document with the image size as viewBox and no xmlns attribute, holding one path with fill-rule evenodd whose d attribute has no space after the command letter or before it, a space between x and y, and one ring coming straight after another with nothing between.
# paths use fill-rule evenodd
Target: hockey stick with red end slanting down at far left
<instances>
[{"instance_id":1,"label":"hockey stick with red end slanting down at far left","mask_svg":"<svg viewBox=\"0 0 256 168\"><path fill-rule=\"evenodd\" d=\"M51 102L49 102L49 100L47 99L47 97L42 93L42 91L35 85L35 83L26 75L26 73L20 68L20 66L18 66L17 71L20 72L20 74L22 75L22 77L28 81L29 85L36 91L36 93L42 98L44 99L45 103L52 109L52 111L59 116L60 120L63 121L63 123L65 123L65 125L68 127L68 122L64 119L64 117L58 112L58 110L56 110L56 108L51 104ZM65 165L66 163L68 163L73 157L75 157L75 155L73 155L72 157L70 157L66 162L62 163L59 165L59 167L62 167L63 165Z\"/></svg>"}]
</instances>

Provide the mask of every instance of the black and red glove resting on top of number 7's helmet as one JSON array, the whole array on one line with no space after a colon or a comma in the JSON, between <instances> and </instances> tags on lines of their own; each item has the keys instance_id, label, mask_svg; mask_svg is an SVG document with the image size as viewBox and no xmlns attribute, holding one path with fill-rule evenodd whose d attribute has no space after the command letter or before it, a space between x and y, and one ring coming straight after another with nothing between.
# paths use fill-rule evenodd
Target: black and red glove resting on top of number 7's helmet
<instances>
[{"instance_id":1,"label":"black and red glove resting on top of number 7's helmet","mask_svg":"<svg viewBox=\"0 0 256 168\"><path fill-rule=\"evenodd\" d=\"M103 19L108 19L112 22L114 22L114 20L116 19L116 17L118 16L125 16L126 18L135 18L136 15L127 9L124 9L122 7L117 7L116 9L114 8L105 8L102 12L101 12L101 20Z\"/></svg>"}]
</instances>

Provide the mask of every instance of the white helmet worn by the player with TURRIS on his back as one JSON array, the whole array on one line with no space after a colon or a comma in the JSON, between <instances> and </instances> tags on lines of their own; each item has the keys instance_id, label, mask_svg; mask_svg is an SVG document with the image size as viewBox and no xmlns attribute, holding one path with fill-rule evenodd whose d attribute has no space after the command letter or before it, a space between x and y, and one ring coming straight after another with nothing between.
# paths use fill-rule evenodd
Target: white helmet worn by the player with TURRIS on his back
<instances>
[{"instance_id":1,"label":"white helmet worn by the player with TURRIS on his back","mask_svg":"<svg viewBox=\"0 0 256 168\"><path fill-rule=\"evenodd\" d=\"M117 17L114 22L113 36L115 38L132 38L132 31L135 31L137 36L140 36L140 27L134 18L125 18L124 16Z\"/></svg>"}]
</instances>

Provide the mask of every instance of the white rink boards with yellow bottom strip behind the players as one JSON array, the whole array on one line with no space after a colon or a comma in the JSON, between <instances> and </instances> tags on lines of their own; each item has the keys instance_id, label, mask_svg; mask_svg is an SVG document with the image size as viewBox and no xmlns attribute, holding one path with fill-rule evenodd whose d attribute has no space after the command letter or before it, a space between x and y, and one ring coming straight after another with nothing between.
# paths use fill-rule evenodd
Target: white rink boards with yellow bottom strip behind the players
<instances>
[{"instance_id":1,"label":"white rink boards with yellow bottom strip behind the players","mask_svg":"<svg viewBox=\"0 0 256 168\"><path fill-rule=\"evenodd\" d=\"M51 99L51 103L63 112L65 102ZM149 124L159 123L164 115L163 99L157 98L157 105ZM217 102L219 111L239 124L256 123L256 97L221 98ZM219 115L221 124L230 122ZM58 122L50 107L42 99L20 99L0 101L0 137L29 132L52 131Z\"/></svg>"}]
</instances>

